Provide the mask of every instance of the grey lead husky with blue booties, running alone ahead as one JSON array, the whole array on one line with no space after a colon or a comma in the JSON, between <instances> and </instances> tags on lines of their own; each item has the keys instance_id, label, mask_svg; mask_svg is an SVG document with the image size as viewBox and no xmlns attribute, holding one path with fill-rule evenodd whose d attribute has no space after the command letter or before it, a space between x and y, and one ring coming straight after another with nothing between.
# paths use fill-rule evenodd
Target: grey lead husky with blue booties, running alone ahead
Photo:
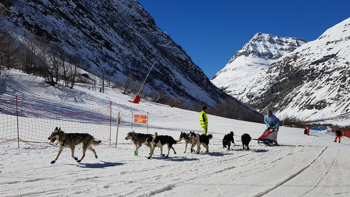
<instances>
[{"instance_id":1,"label":"grey lead husky with blue booties, running alone ahead","mask_svg":"<svg viewBox=\"0 0 350 197\"><path fill-rule=\"evenodd\" d=\"M55 160L51 161L51 163L55 163L61 154L63 148L70 148L72 151L72 158L75 159L78 163L80 163L84 157L86 149L89 149L93 152L97 159L96 151L91 147L91 145L98 145L101 143L101 140L94 140L94 138L88 133L64 133L61 131L61 127L56 127L55 131L51 133L48 140L51 140L51 143L57 140L59 142L59 151ZM74 156L75 146L83 144L83 156L78 160L77 157Z\"/></svg>"}]
</instances>

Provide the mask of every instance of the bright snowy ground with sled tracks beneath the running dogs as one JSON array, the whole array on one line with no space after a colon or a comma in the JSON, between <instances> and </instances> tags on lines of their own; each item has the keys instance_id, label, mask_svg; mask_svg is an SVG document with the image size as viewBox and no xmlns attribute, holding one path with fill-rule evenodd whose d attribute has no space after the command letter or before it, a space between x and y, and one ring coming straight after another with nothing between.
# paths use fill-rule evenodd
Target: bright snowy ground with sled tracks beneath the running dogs
<instances>
[{"instance_id":1,"label":"bright snowy ground with sled tracks beneath the running dogs","mask_svg":"<svg viewBox=\"0 0 350 197\"><path fill-rule=\"evenodd\" d=\"M21 73L22 75L22 73ZM222 148L221 139L230 131L248 133L258 138L265 125L208 115L209 133L214 139L210 153L182 153L184 143L174 145L177 154L159 156L156 148L147 159L144 145L134 156L134 145L125 140L131 131L131 112L149 112L149 132L179 138L180 132L201 133L198 112L181 110L142 101L128 102L118 90L101 94L76 86L75 90L44 83L30 84L29 76L13 76L2 87L0 98L25 95L43 107L74 108L85 111L106 105L121 112L117 148L97 146L98 159L87 150L78 164L64 149L55 164L57 147L32 147L25 143L0 145L0 196L349 196L350 140L335 143L334 134L281 127L281 146L259 146L255 140L250 151L242 150L239 141L231 150ZM113 118L116 117L113 114ZM209 112L210 113L210 112ZM237 112L239 113L239 112ZM72 123L73 124L73 123ZM52 130L55 125L52 125ZM146 133L144 125L133 125L135 132ZM115 141L116 126L112 126ZM48 136L51 131L48 131ZM235 136L235 140L240 137ZM204 149L204 150L203 150ZM166 148L164 148L166 150ZM189 150L189 148L188 148ZM188 151L189 152L189 151ZM81 157L81 146L75 156Z\"/></svg>"}]
</instances>

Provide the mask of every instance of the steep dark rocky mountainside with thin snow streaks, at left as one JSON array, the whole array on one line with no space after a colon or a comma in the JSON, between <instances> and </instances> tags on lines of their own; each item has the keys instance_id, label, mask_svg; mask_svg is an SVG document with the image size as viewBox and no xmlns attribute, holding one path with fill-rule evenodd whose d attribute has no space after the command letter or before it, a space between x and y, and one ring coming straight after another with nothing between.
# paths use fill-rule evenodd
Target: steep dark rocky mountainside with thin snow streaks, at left
<instances>
[{"instance_id":1,"label":"steep dark rocky mountainside with thin snow streaks, at left","mask_svg":"<svg viewBox=\"0 0 350 197\"><path fill-rule=\"evenodd\" d=\"M188 103L202 100L214 105L234 99L210 82L136 0L4 0L1 7L16 34L35 29L37 36L82 56L86 71L104 71L119 82L125 76L136 77L142 83L155 61L148 90L163 90ZM235 102L237 109L257 113Z\"/></svg>"}]
</instances>

